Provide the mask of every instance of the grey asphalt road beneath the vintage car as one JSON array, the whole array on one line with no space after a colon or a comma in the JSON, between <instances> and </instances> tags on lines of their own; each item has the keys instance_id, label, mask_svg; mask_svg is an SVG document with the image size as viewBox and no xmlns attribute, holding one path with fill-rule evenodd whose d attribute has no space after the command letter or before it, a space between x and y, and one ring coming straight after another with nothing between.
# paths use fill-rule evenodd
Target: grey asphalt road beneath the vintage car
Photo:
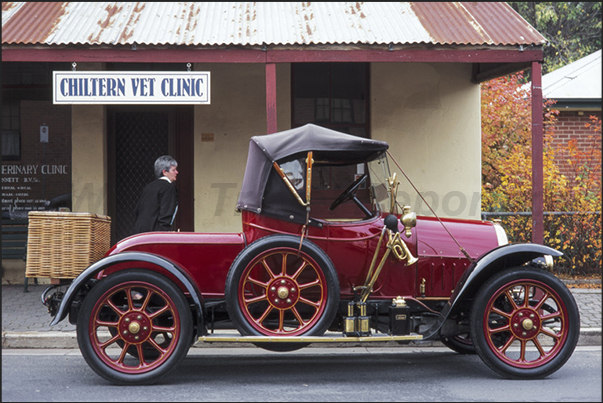
<instances>
[{"instance_id":1,"label":"grey asphalt road beneath the vintage car","mask_svg":"<svg viewBox=\"0 0 603 403\"><path fill-rule=\"evenodd\" d=\"M2 401L601 401L601 347L512 381L447 348L192 349L161 384L115 386L78 350L2 350Z\"/></svg>"}]
</instances>

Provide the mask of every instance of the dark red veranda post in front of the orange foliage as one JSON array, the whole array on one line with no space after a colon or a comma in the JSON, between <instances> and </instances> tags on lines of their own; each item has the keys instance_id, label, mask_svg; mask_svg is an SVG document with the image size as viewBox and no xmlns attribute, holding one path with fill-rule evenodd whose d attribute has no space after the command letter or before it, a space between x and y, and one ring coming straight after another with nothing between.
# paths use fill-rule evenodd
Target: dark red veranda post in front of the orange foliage
<instances>
[{"instance_id":1,"label":"dark red veranda post in front of the orange foliage","mask_svg":"<svg viewBox=\"0 0 603 403\"><path fill-rule=\"evenodd\" d=\"M542 66L532 62L532 242L544 244Z\"/></svg>"}]
</instances>

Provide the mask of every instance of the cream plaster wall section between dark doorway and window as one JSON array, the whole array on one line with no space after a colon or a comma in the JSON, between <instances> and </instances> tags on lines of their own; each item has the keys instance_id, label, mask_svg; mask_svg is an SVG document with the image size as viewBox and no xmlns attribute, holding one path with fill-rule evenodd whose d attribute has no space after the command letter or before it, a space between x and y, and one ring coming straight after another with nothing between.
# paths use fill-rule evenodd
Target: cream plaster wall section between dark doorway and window
<instances>
[{"instance_id":1,"label":"cream plaster wall section between dark doorway and window","mask_svg":"<svg viewBox=\"0 0 603 403\"><path fill-rule=\"evenodd\" d=\"M251 136L266 133L264 64L195 64L211 72L211 105L195 107L195 231L240 232L235 205ZM291 127L290 65L277 65L278 130ZM213 140L210 140L213 137Z\"/></svg>"}]
</instances>

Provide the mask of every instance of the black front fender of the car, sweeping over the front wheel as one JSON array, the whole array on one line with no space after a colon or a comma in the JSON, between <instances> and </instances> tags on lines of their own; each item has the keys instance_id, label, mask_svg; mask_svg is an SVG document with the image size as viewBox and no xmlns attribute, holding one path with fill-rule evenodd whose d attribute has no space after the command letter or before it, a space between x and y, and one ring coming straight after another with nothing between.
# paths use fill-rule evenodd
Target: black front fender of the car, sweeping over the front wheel
<instances>
[{"instance_id":1,"label":"black front fender of the car, sweeping over the front wheel","mask_svg":"<svg viewBox=\"0 0 603 403\"><path fill-rule=\"evenodd\" d=\"M563 256L563 253L548 246L523 243L499 246L480 256L471 263L457 283L452 296L426 339L437 336L455 308L458 308L462 301L473 298L488 278L506 268L522 266L545 255L559 257Z\"/></svg>"}]
</instances>

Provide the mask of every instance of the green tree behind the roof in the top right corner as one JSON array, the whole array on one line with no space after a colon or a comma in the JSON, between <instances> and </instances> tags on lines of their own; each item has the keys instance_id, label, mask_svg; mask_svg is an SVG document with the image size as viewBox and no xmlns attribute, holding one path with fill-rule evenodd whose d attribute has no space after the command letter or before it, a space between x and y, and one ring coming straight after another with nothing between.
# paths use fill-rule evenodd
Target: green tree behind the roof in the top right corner
<instances>
[{"instance_id":1,"label":"green tree behind the roof in the top right corner","mask_svg":"<svg viewBox=\"0 0 603 403\"><path fill-rule=\"evenodd\" d=\"M549 41L543 74L601 49L601 4L595 2L509 2Z\"/></svg>"}]
</instances>

